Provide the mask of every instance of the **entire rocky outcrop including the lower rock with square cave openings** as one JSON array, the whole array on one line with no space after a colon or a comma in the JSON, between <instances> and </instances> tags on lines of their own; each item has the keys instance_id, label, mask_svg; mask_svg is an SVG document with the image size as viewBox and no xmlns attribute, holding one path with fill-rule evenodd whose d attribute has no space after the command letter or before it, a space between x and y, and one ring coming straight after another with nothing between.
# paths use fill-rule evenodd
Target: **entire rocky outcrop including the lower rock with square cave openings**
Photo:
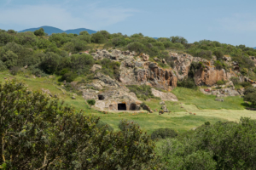
<instances>
[{"instance_id":1,"label":"entire rocky outcrop including the lower rock with square cave openings","mask_svg":"<svg viewBox=\"0 0 256 170\"><path fill-rule=\"evenodd\" d=\"M251 82L252 80L240 74L240 68L230 57L224 56L225 65L230 66L229 71L218 69L214 66L216 60L201 59L189 54L170 53L174 63L173 67L166 65L165 59L149 58L148 54L137 54L130 51L120 51L117 49L106 50L97 49L96 53L91 53L95 60L111 59L120 63L119 77L114 80L100 72L101 65L93 65L91 71L96 72L94 81L80 86L84 99L96 99L96 107L102 110L112 111L137 111L142 101L137 99L136 94L130 92L126 85L148 85L152 87L152 94L162 100L177 101L177 97L170 93L177 87L177 81L183 81L187 77L192 77L197 86L207 86L201 89L204 94L213 94L217 97L241 95L237 91L230 77L238 77L241 82ZM162 68L160 64L166 65ZM195 67L195 65L197 65ZM232 69L233 68L233 69ZM193 74L192 74L193 73ZM226 81L222 89L217 87L218 81ZM88 89L93 88L93 89ZM169 93L160 92L155 88L160 88ZM146 110L151 111L147 106Z\"/></svg>"}]
</instances>

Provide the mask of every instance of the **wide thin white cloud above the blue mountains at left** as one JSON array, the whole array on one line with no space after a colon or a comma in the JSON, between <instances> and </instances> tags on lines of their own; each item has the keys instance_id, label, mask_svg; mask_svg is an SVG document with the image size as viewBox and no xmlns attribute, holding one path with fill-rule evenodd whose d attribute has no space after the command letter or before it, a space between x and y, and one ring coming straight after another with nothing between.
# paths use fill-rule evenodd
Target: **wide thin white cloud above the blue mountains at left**
<instances>
[{"instance_id":1,"label":"wide thin white cloud above the blue mountains at left","mask_svg":"<svg viewBox=\"0 0 256 170\"><path fill-rule=\"evenodd\" d=\"M66 3L68 2L67 0ZM83 8L78 7L77 10L79 12L76 11L73 14L72 10L74 8L68 8L67 5L64 6L44 4L2 8L0 10L0 23L3 26L17 26L20 29L55 26L63 30L81 27L99 30L103 29L104 26L110 26L125 20L137 12L131 8L100 8L95 3L86 5Z\"/></svg>"}]
</instances>

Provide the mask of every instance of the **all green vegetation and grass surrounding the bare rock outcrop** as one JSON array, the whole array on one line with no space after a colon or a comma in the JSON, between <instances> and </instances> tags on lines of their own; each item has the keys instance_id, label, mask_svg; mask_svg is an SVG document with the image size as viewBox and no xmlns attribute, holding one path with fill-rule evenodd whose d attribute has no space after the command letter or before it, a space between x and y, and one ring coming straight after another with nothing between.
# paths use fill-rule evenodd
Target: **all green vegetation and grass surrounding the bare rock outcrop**
<instances>
[{"instance_id":1,"label":"all green vegetation and grass surrounding the bare rock outcrop","mask_svg":"<svg viewBox=\"0 0 256 170\"><path fill-rule=\"evenodd\" d=\"M157 56L166 59L168 65L163 67L174 65L170 52L204 59L215 55L215 66L226 71L230 68L222 57L229 55L239 62L241 74L256 79L249 59L256 56L256 49L243 45L188 43L183 37L156 40L141 33L128 37L82 31L47 36L44 29L0 30L0 168L255 169L256 114L245 107L256 105L256 95L249 84L233 78L236 88L246 88L244 99L226 97L218 102L215 96L202 94L191 80L178 82L172 90L178 102L165 101L170 112L162 115L161 100L151 87L130 85L127 88L153 113L96 111L94 102L85 101L74 83L92 82L94 64L117 79L120 66L110 59L93 59L90 54L97 48L146 53L150 60ZM79 54L84 51L89 54ZM47 96L42 94L46 89Z\"/></svg>"}]
</instances>

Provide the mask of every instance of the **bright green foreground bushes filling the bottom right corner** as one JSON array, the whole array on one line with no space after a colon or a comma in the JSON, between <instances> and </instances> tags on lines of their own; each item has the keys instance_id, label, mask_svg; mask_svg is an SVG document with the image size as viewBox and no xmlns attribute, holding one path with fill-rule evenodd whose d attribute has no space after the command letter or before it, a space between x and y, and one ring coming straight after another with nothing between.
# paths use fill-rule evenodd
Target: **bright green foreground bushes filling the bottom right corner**
<instances>
[{"instance_id":1,"label":"bright green foreground bushes filling the bottom right corner","mask_svg":"<svg viewBox=\"0 0 256 170\"><path fill-rule=\"evenodd\" d=\"M168 169L255 169L255 133L249 118L203 125L166 140L160 154Z\"/></svg>"}]
</instances>

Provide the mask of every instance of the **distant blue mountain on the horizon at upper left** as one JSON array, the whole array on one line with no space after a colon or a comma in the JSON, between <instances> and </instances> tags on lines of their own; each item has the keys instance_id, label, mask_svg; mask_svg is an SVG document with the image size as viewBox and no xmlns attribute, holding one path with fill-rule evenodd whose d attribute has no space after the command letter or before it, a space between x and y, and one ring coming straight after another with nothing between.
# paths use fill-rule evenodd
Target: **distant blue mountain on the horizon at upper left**
<instances>
[{"instance_id":1,"label":"distant blue mountain on the horizon at upper left","mask_svg":"<svg viewBox=\"0 0 256 170\"><path fill-rule=\"evenodd\" d=\"M67 32L67 34L73 33L73 34L79 34L80 31L88 31L89 34L93 34L96 33L96 31L90 30L90 29L86 29L86 28L78 28L78 29L74 29L74 30L67 30L67 31L63 31L59 28L55 28L53 26L41 26L38 28L29 28L23 31L19 31L19 32L25 32L25 31L36 31L39 28L44 28L44 32L48 33L49 35L53 34L53 33L62 33L62 32Z\"/></svg>"}]
</instances>

